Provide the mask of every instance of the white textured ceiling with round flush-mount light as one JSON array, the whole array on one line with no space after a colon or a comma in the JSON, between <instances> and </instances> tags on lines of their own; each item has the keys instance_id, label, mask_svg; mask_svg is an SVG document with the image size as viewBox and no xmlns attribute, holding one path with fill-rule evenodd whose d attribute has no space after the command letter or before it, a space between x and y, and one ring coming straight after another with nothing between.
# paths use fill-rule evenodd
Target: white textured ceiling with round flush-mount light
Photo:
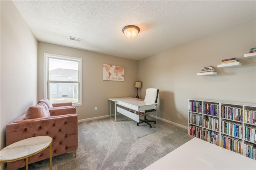
<instances>
[{"instance_id":1,"label":"white textured ceiling with round flush-mount light","mask_svg":"<svg viewBox=\"0 0 256 170\"><path fill-rule=\"evenodd\" d=\"M13 2L38 41L134 60L256 18L255 0ZM140 28L136 38L126 25Z\"/></svg>"}]
</instances>

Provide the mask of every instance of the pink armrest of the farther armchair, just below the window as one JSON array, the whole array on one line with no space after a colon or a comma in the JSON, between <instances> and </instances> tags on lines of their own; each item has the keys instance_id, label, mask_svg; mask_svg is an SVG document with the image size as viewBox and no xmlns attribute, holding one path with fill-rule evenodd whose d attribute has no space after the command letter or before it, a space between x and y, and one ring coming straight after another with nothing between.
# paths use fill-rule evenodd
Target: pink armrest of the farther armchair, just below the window
<instances>
[{"instance_id":1,"label":"pink armrest of the farther armchair, just below the window","mask_svg":"<svg viewBox=\"0 0 256 170\"><path fill-rule=\"evenodd\" d=\"M54 108L48 108L48 109L51 116L76 113L75 106L61 106L61 107L54 107Z\"/></svg>"}]
</instances>

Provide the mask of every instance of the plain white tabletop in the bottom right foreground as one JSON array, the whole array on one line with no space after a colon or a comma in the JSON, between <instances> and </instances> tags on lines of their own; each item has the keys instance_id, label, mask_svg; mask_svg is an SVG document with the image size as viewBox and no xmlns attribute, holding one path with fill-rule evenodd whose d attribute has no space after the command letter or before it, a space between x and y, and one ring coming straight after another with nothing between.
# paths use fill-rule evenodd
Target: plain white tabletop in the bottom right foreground
<instances>
[{"instance_id":1,"label":"plain white tabletop in the bottom right foreground","mask_svg":"<svg viewBox=\"0 0 256 170\"><path fill-rule=\"evenodd\" d=\"M256 170L256 161L193 138L144 170Z\"/></svg>"}]
</instances>

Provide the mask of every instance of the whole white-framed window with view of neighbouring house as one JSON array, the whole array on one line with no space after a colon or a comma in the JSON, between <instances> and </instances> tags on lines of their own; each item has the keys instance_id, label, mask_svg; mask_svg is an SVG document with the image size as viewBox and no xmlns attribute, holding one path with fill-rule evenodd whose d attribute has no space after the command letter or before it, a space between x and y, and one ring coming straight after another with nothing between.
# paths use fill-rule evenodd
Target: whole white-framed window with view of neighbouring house
<instances>
[{"instance_id":1,"label":"whole white-framed window with view of neighbouring house","mask_svg":"<svg viewBox=\"0 0 256 170\"><path fill-rule=\"evenodd\" d=\"M44 53L44 98L82 105L82 58Z\"/></svg>"}]
</instances>

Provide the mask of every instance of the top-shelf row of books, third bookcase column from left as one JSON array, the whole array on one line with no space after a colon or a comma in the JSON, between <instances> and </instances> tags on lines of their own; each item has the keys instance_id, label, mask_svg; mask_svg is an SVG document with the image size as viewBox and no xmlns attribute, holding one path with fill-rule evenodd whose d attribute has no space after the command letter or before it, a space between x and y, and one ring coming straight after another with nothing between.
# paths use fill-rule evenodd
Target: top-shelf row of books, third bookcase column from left
<instances>
[{"instance_id":1,"label":"top-shelf row of books, third bookcase column from left","mask_svg":"<svg viewBox=\"0 0 256 170\"><path fill-rule=\"evenodd\" d=\"M243 121L243 109L238 107L232 107L228 105L222 105L222 118Z\"/></svg>"}]
</instances>

